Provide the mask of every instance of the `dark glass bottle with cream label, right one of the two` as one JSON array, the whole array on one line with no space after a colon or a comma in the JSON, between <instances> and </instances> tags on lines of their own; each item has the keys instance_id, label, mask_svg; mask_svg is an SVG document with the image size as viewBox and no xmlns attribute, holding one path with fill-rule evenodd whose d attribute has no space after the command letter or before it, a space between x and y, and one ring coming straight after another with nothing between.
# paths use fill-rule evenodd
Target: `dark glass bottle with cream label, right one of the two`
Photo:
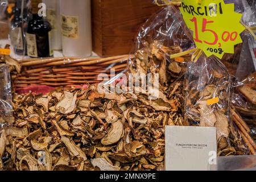
<instances>
[{"instance_id":1,"label":"dark glass bottle with cream label, right one of the two","mask_svg":"<svg viewBox=\"0 0 256 182\"><path fill-rule=\"evenodd\" d=\"M30 57L51 57L53 51L50 45L51 24L43 16L39 16L40 0L31 0L32 19L28 22L26 42L27 55Z\"/></svg>"}]
</instances>

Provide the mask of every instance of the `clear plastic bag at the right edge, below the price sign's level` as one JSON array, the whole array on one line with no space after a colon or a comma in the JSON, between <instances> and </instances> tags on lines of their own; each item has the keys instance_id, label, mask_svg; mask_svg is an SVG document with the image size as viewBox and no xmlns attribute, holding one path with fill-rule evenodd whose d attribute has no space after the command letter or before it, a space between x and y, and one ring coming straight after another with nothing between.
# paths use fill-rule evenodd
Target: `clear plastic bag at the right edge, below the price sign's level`
<instances>
[{"instance_id":1,"label":"clear plastic bag at the right edge, below the price sign's level","mask_svg":"<svg viewBox=\"0 0 256 182\"><path fill-rule=\"evenodd\" d=\"M253 129L256 127L256 41L244 32L241 53L236 70L236 82L232 105L251 127L251 135L256 137Z\"/></svg>"}]
</instances>

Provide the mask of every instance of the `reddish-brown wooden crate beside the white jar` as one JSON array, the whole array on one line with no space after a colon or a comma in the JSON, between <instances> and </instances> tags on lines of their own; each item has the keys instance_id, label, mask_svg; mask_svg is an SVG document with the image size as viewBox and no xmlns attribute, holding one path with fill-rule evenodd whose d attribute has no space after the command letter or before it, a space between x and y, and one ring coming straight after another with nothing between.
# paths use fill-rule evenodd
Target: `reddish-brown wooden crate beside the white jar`
<instances>
[{"instance_id":1,"label":"reddish-brown wooden crate beside the white jar","mask_svg":"<svg viewBox=\"0 0 256 182\"><path fill-rule=\"evenodd\" d=\"M100 56L130 53L139 28L159 9L152 0L92 0L93 51Z\"/></svg>"}]
</instances>

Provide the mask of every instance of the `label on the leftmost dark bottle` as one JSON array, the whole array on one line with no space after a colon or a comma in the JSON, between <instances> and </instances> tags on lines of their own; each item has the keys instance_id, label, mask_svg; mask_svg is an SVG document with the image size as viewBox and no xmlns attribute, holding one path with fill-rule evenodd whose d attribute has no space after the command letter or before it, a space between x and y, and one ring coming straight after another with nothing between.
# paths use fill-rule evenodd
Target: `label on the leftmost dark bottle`
<instances>
[{"instance_id":1,"label":"label on the leftmost dark bottle","mask_svg":"<svg viewBox=\"0 0 256 182\"><path fill-rule=\"evenodd\" d=\"M23 50L23 34L22 34L22 28L15 27L10 31L10 37L11 37L11 44L15 49Z\"/></svg>"}]
</instances>

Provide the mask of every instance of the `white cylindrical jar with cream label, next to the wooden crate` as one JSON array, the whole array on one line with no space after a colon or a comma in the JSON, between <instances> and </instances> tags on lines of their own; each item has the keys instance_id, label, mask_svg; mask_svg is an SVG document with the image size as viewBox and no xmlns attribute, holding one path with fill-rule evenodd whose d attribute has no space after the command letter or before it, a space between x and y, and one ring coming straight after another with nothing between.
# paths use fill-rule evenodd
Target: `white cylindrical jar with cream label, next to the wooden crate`
<instances>
[{"instance_id":1,"label":"white cylindrical jar with cream label, next to the wooden crate","mask_svg":"<svg viewBox=\"0 0 256 182\"><path fill-rule=\"evenodd\" d=\"M90 0L61 0L60 19L64 56L92 54Z\"/></svg>"}]
</instances>

